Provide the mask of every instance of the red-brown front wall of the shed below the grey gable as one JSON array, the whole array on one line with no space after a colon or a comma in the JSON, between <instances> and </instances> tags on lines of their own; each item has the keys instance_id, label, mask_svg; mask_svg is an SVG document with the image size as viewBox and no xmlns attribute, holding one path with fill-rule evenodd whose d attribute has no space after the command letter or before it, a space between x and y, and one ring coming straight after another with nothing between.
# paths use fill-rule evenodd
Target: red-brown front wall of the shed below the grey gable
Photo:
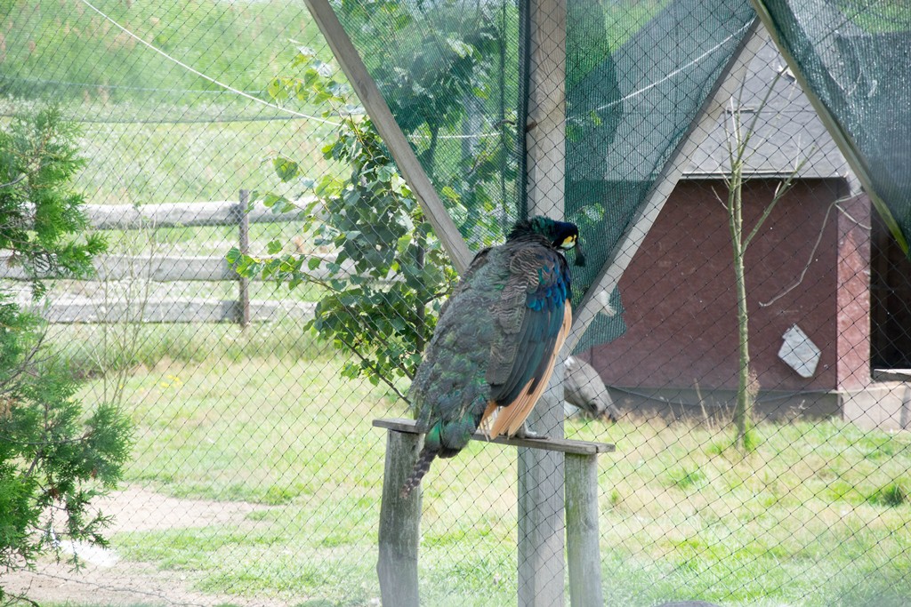
<instances>
[{"instance_id":1,"label":"red-brown front wall of the shed below the grey gable","mask_svg":"<svg viewBox=\"0 0 911 607\"><path fill-rule=\"evenodd\" d=\"M747 230L772 199L776 184L774 179L745 184ZM727 195L721 180L681 181L620 279L629 329L589 353L608 385L691 389L698 383L701 389L736 388L731 241L727 214L716 194ZM842 179L799 181L747 251L752 365L763 390L838 387L838 213L827 217L826 211L846 194ZM804 280L785 293L808 261ZM761 304L778 296L768 306ZM794 324L822 350L810 379L778 358L782 335ZM867 338L868 329L855 337ZM863 366L868 367L866 360Z\"/></svg>"}]
</instances>

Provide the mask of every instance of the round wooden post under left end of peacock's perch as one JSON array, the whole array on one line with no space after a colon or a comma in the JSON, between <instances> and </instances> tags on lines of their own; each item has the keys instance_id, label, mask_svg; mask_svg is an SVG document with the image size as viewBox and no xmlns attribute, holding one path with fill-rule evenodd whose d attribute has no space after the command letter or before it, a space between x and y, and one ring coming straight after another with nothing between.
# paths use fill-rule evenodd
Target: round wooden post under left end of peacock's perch
<instances>
[{"instance_id":1,"label":"round wooden post under left end of peacock's perch","mask_svg":"<svg viewBox=\"0 0 911 607\"><path fill-rule=\"evenodd\" d=\"M420 435L386 430L383 502L380 505L380 558L376 573L384 605L418 607L417 544L421 491L402 498L402 486L417 460Z\"/></svg>"}]
</instances>

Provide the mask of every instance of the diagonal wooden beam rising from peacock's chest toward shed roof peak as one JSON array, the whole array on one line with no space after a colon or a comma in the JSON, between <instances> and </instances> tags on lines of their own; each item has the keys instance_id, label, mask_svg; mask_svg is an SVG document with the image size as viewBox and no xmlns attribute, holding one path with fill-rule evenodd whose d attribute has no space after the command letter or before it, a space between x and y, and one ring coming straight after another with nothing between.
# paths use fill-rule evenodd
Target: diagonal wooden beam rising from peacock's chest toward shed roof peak
<instances>
[{"instance_id":1,"label":"diagonal wooden beam rising from peacock's chest toward shed roof peak","mask_svg":"<svg viewBox=\"0 0 911 607\"><path fill-rule=\"evenodd\" d=\"M683 175L683 169L718 123L725 104L741 85L752 57L759 51L765 39L759 29L758 19L753 19L751 23L747 24L745 31L739 46L734 50L716 80L714 90L706 97L693 120L689 132L681 138L681 142L661 169L660 176L655 180L649 195L640 205L636 216L632 218L623 237L619 239L604 267L601 268L598 278L591 284L577 309L574 310L573 326L563 345L564 352L573 351L592 321L597 318L599 312L605 309L605 302L610 293L617 287L623 272L630 265L630 261L658 218L661 208L664 207L670 193L677 187L677 182Z\"/></svg>"}]
</instances>

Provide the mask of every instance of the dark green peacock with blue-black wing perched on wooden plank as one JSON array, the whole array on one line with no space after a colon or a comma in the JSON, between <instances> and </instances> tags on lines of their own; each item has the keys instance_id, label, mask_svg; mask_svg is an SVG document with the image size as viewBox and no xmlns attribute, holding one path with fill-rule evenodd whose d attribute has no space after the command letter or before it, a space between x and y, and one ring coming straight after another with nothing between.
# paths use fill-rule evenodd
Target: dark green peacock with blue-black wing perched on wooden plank
<instances>
[{"instance_id":1,"label":"dark green peacock with blue-black wing perched on wooden plank","mask_svg":"<svg viewBox=\"0 0 911 607\"><path fill-rule=\"evenodd\" d=\"M535 217L518 222L506 244L476 255L440 312L409 390L426 436L403 496L478 428L487 438L536 436L524 424L572 324L564 251L574 247L582 266L576 225Z\"/></svg>"}]
</instances>

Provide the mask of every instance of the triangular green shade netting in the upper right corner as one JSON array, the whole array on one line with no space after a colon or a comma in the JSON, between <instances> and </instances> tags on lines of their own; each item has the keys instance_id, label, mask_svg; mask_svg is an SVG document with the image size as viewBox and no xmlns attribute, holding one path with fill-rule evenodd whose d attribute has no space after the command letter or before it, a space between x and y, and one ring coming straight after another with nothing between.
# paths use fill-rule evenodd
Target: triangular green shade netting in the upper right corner
<instances>
[{"instance_id":1,"label":"triangular green shade netting in the upper right corner","mask_svg":"<svg viewBox=\"0 0 911 607\"><path fill-rule=\"evenodd\" d=\"M783 46L855 150L881 200L881 215L907 253L911 22L906 7L855 0L763 4Z\"/></svg>"}]
</instances>

